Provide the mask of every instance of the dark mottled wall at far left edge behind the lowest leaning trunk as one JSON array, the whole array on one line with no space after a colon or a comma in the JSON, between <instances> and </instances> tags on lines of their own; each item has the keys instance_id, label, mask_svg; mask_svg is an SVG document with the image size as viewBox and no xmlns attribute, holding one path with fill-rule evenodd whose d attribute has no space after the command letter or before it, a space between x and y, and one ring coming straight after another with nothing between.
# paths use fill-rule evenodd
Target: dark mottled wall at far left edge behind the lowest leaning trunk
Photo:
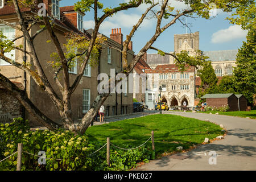
<instances>
[{"instance_id":1,"label":"dark mottled wall at far left edge behind the lowest leaning trunk","mask_svg":"<svg viewBox=\"0 0 256 182\"><path fill-rule=\"evenodd\" d=\"M0 115L8 115L10 121L13 118L22 117L22 106L19 101L7 93L5 89L0 89ZM1 117L0 122L3 122Z\"/></svg>"}]
</instances>

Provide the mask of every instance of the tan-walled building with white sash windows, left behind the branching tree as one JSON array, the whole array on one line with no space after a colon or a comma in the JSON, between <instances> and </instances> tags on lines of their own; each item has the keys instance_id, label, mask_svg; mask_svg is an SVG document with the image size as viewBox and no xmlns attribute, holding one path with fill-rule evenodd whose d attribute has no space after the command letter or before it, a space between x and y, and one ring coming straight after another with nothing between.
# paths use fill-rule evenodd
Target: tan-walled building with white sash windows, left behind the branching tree
<instances>
[{"instance_id":1,"label":"tan-walled building with white sash windows, left behind the branching tree","mask_svg":"<svg viewBox=\"0 0 256 182\"><path fill-rule=\"evenodd\" d=\"M59 0L55 0L55 2ZM51 0L44 0L47 4L47 10L50 10ZM82 36L90 38L89 32L85 31L82 26L82 14L80 11L73 10L73 6L68 7L55 7L58 9L56 12L59 12L59 15L53 15L55 17L53 24L55 34L60 41L60 44L63 45L67 43L65 38L65 34L67 32L77 32ZM30 10L22 9L22 12L29 13ZM51 14L51 11L48 11ZM57 16L60 16L60 20ZM80 17L80 18L79 18ZM9 23L16 24L19 26L18 18L15 14L15 10L13 7L6 5L0 9L0 19L6 20ZM82 26L83 27L83 26ZM30 35L34 35L36 31L40 29L39 24L34 24L30 30ZM13 28L0 25L0 30L3 32L4 35L7 36L8 39L13 40L15 37L22 35L22 32L18 30L14 30ZM104 36L99 34L99 36ZM51 84L53 90L57 93L57 95L61 98L61 93L59 92L59 88L57 87L54 81L54 74L51 65L48 64L48 61L51 60L51 54L56 52L56 48L53 43L48 43L47 40L50 39L47 31L43 31L38 36L36 36L34 40L35 49L38 53L38 58L40 64L42 64L42 68L44 68L44 72ZM15 45L19 46L23 44L24 39L20 38L15 41ZM131 46L131 45L130 45ZM28 47L28 46L27 46ZM122 59L121 59L121 52L117 51L117 49L121 49L122 44L116 42L115 40L108 38L106 41L106 45L102 45L102 50L99 58L99 64L96 67L90 67L88 65L85 69L84 76L81 78L79 86L71 96L71 109L73 113L74 121L81 119L84 114L90 109L90 105L96 99L98 95L97 85L98 85L98 74L99 73L109 73L110 68L114 68L117 71L122 69ZM131 46L132 47L132 46ZM27 51L30 51L27 48ZM24 53L18 50L12 51L11 53L6 54L7 57L17 61L18 63L23 63L22 57ZM128 54L128 61L133 59L134 52L132 50L129 51ZM109 59L111 62L109 63ZM31 64L31 67L34 67L30 56L27 56L27 63ZM69 78L71 83L75 81L77 77L77 73L79 72L81 65L76 63L73 68L69 71ZM35 81L27 75L25 78L25 74L21 69L14 67L11 64L6 63L3 60L0 60L0 70L1 73L6 76L7 78L14 77L12 81L20 82L24 86L24 90L27 92L28 98L30 98L31 102L38 107L39 110L42 111L48 118L52 119L52 121L60 122L61 117L59 112L57 111L56 107L54 106L51 98L49 98L48 94L44 92L36 83ZM60 80L64 80L60 76ZM26 82L26 84L24 84ZM25 86L26 85L26 86ZM1 101L3 103L3 101ZM132 113L133 112L133 94L127 94L127 96L110 96L108 100L105 101L105 110L108 112L107 115L115 115L115 114L122 114L122 113ZM113 107L115 111L110 111L110 105L117 107ZM31 122L31 125L39 125L36 122L36 119L32 117L27 111L24 112L26 119Z\"/></svg>"}]
</instances>

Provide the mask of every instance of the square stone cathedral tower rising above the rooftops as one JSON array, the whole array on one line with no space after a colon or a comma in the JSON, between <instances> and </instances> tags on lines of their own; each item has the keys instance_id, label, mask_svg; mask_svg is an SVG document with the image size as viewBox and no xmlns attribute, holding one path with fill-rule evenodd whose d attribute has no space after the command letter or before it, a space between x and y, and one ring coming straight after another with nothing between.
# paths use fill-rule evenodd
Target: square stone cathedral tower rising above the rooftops
<instances>
[{"instance_id":1,"label":"square stone cathedral tower rising above the rooftops","mask_svg":"<svg viewBox=\"0 0 256 182\"><path fill-rule=\"evenodd\" d=\"M174 52L182 46L184 42L187 42L194 50L199 49L199 32L191 34L176 34L174 35Z\"/></svg>"}]
</instances>

